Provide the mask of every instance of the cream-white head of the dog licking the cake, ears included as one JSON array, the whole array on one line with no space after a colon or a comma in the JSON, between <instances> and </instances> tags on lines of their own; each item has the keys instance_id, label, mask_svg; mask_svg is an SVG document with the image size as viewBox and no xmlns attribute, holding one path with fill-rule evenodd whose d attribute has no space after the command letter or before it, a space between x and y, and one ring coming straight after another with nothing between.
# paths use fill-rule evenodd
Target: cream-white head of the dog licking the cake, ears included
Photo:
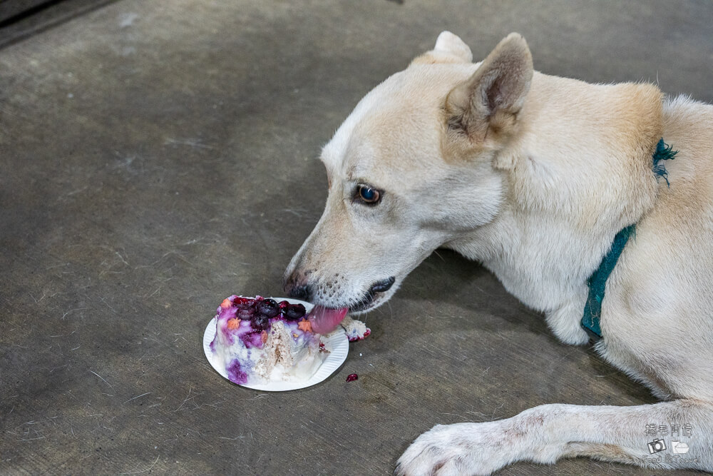
<instances>
[{"instance_id":1,"label":"cream-white head of the dog licking the cake, ears included","mask_svg":"<svg viewBox=\"0 0 713 476\"><path fill-rule=\"evenodd\" d=\"M485 61L471 61L468 46L444 31L339 127L321 156L327 206L287 268L289 295L375 308L432 251L500 211L493 158L516 136L532 59L511 34Z\"/></svg>"}]
</instances>

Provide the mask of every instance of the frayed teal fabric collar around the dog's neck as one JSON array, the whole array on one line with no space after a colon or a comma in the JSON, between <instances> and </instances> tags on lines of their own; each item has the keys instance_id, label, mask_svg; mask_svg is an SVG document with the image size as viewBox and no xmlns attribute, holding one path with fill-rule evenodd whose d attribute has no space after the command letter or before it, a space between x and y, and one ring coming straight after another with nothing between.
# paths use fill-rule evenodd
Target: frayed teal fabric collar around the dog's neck
<instances>
[{"instance_id":1,"label":"frayed teal fabric collar around the dog's neck","mask_svg":"<svg viewBox=\"0 0 713 476\"><path fill-rule=\"evenodd\" d=\"M674 158L678 151L673 151L672 146L667 146L663 139L656 145L656 151L653 155L653 171L658 177L663 177L666 185L670 186L668 181L668 173L663 163ZM636 235L636 224L627 226L622 231L616 234L610 250L602 258L599 268L587 280L589 294L587 302L584 305L584 315L582 316L582 327L593 340L602 338L602 328L600 326L600 318L602 316L602 301L604 300L604 290L607 285L607 279L617 265L624 247L629 238Z\"/></svg>"}]
</instances>

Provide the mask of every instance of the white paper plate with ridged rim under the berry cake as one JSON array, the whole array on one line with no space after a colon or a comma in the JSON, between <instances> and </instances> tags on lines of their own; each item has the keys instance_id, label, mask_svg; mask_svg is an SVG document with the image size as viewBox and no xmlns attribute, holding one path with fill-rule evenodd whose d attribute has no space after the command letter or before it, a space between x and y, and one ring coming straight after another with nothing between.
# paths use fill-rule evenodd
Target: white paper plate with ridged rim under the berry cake
<instances>
[{"instance_id":1,"label":"white paper plate with ridged rim under the berry cake","mask_svg":"<svg viewBox=\"0 0 713 476\"><path fill-rule=\"evenodd\" d=\"M312 304L305 303L304 301L290 298L272 298L278 303L281 300L286 300L291 304L302 304L304 308L309 313L312 310ZM211 367L215 369L222 377L227 379L227 372L225 367L220 365L218 359L215 358L215 354L210 350L210 343L213 338L215 338L215 318L212 318L208 325L205 327L205 333L203 333L203 352L205 352L205 358L207 358L208 363ZM333 330L327 335L322 335L322 342L324 347L330 350L327 358L324 359L324 363L319 366L317 372L312 375L309 380L302 380L298 382L269 382L269 383L246 383L246 384L236 384L241 387L252 388L254 390L264 390L267 392L284 392L286 390L297 390L299 388L307 388L312 385L325 380L329 375L332 375L335 370L337 370L343 363L347 360L347 353L349 353L349 339L347 334L344 333L344 329L341 325L337 326L337 329ZM232 382L232 380L230 380ZM234 382L232 382L234 383Z\"/></svg>"}]
</instances>

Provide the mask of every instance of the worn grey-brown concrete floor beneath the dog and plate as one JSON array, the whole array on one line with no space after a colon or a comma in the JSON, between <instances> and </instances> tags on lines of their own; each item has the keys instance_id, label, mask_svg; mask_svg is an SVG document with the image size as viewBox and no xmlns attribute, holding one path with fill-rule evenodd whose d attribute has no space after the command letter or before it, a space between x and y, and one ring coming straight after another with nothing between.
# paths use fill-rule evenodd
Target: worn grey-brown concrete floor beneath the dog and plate
<instances>
[{"instance_id":1,"label":"worn grey-brown concrete floor beneath the dog and plate","mask_svg":"<svg viewBox=\"0 0 713 476\"><path fill-rule=\"evenodd\" d=\"M231 293L281 293L326 197L319 148L441 30L478 59L520 31L540 71L710 101L712 24L700 1L122 0L1 49L0 473L379 475L436 423L654 402L448 252L313 388L232 385L202 331ZM652 474L501 474L555 472Z\"/></svg>"}]
</instances>

